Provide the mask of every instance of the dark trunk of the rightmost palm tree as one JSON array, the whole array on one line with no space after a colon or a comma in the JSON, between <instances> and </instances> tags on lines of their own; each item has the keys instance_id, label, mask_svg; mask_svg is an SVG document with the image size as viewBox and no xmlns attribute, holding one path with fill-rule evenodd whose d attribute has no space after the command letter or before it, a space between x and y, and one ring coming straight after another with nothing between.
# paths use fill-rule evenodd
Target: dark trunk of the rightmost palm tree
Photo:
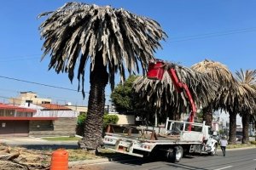
<instances>
[{"instance_id":1,"label":"dark trunk of the rightmost palm tree","mask_svg":"<svg viewBox=\"0 0 256 170\"><path fill-rule=\"evenodd\" d=\"M249 142L249 124L250 124L250 115L247 113L242 114L242 144L247 144Z\"/></svg>"}]
</instances>

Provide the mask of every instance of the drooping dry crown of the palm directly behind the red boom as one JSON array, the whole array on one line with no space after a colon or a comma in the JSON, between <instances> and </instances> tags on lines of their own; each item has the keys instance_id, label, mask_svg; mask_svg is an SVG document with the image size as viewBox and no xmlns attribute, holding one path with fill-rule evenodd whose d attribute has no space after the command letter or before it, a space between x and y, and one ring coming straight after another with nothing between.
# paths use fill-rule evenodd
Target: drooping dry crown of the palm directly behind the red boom
<instances>
[{"instance_id":1,"label":"drooping dry crown of the palm directly behind the red boom","mask_svg":"<svg viewBox=\"0 0 256 170\"><path fill-rule=\"evenodd\" d=\"M193 71L187 67L168 63L168 68L174 68L181 82L189 86L189 90L196 105L206 106L215 97L218 84L206 75ZM142 100L158 113L161 120L168 116L174 120L180 118L181 113L189 112L188 99L185 94L178 94L168 70L164 72L162 80L151 80L147 77L138 77L133 87L140 94Z\"/></svg>"}]
</instances>

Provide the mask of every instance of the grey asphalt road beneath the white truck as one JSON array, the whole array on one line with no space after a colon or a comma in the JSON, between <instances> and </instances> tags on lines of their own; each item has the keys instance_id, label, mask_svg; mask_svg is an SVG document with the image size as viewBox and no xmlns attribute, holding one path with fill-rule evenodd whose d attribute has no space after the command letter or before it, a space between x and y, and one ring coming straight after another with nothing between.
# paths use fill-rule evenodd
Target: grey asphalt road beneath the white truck
<instances>
[{"instance_id":1,"label":"grey asphalt road beneath the white truck","mask_svg":"<svg viewBox=\"0 0 256 170\"><path fill-rule=\"evenodd\" d=\"M179 163L136 158L129 161L109 161L79 167L95 170L256 170L256 149L227 150L226 156L187 156Z\"/></svg>"}]
</instances>

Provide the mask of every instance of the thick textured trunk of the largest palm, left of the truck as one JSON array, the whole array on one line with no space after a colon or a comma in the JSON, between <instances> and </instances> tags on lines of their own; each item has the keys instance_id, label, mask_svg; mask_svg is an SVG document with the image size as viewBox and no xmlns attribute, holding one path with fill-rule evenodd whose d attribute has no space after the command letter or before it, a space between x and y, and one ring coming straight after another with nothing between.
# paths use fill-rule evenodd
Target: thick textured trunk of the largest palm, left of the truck
<instances>
[{"instance_id":1,"label":"thick textured trunk of the largest palm, left of the truck","mask_svg":"<svg viewBox=\"0 0 256 170\"><path fill-rule=\"evenodd\" d=\"M79 146L84 150L96 150L96 147L102 144L105 88L107 83L107 69L103 65L102 56L97 55L95 68L90 73L89 107L87 118L84 122L84 138L79 140Z\"/></svg>"}]
</instances>

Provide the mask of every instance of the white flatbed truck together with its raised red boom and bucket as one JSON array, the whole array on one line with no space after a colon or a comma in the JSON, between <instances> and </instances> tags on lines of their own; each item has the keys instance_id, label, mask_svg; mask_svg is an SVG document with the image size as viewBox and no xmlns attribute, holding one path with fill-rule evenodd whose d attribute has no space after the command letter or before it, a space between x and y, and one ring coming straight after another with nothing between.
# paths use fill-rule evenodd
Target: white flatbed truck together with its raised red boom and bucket
<instances>
[{"instance_id":1,"label":"white flatbed truck together with its raised red boom and bucket","mask_svg":"<svg viewBox=\"0 0 256 170\"><path fill-rule=\"evenodd\" d=\"M147 77L161 80L168 71L178 93L184 93L190 104L189 122L173 121L167 118L164 127L134 127L123 126L126 131L116 133L113 126L103 139L104 147L108 150L131 156L166 156L167 161L178 162L183 154L207 153L215 155L218 143L212 139L210 127L203 123L194 122L196 107L187 84L180 81L175 66L156 59L148 65ZM127 130L128 129L128 130ZM134 133L136 132L137 133ZM125 133L124 133L125 132Z\"/></svg>"}]
</instances>

